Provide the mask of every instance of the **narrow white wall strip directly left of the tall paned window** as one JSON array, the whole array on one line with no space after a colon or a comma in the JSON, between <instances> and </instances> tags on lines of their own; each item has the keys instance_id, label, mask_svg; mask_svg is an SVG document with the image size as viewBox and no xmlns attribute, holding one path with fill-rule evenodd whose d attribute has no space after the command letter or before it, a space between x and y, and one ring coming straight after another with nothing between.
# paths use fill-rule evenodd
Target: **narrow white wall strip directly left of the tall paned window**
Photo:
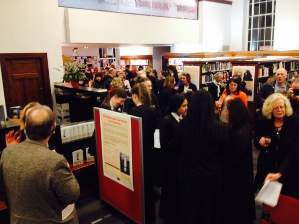
<instances>
[{"instance_id":1,"label":"narrow white wall strip directly left of the tall paned window","mask_svg":"<svg viewBox=\"0 0 299 224\"><path fill-rule=\"evenodd\" d=\"M247 0L232 0L230 51L247 50L248 6ZM248 38L247 38L248 39Z\"/></svg>"}]
</instances>

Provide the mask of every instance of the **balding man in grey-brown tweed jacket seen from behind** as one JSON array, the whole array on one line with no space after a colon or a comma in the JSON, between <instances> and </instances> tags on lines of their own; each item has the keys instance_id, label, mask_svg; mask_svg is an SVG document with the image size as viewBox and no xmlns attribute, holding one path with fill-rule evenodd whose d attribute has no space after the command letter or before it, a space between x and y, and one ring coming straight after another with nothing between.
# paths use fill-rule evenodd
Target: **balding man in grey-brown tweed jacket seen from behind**
<instances>
[{"instance_id":1,"label":"balding man in grey-brown tweed jacket seen from behind","mask_svg":"<svg viewBox=\"0 0 299 224\"><path fill-rule=\"evenodd\" d=\"M79 184L66 159L47 147L54 113L47 106L33 107L25 130L26 140L6 147L0 160L0 198L10 223L78 224Z\"/></svg>"}]
</instances>

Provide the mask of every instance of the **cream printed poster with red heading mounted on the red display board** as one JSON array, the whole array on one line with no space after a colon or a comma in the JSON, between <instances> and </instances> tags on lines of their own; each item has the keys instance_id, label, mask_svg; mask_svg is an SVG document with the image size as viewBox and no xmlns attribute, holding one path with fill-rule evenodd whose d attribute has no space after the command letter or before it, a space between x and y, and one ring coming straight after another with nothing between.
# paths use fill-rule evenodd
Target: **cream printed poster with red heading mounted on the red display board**
<instances>
[{"instance_id":1,"label":"cream printed poster with red heading mounted on the red display board","mask_svg":"<svg viewBox=\"0 0 299 224\"><path fill-rule=\"evenodd\" d=\"M131 117L100 109L104 176L134 191Z\"/></svg>"}]
</instances>

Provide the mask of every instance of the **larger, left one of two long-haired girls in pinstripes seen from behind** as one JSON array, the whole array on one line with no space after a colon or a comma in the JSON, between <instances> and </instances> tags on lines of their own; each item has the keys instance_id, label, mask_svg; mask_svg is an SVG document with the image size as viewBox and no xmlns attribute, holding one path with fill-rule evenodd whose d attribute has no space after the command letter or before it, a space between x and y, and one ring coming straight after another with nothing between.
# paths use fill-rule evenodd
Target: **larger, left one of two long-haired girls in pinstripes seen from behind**
<instances>
[{"instance_id":1,"label":"larger, left one of two long-haired girls in pinstripes seen from behind","mask_svg":"<svg viewBox=\"0 0 299 224\"><path fill-rule=\"evenodd\" d=\"M223 164L227 127L214 116L211 94L195 92L174 134L180 181L179 223L222 224Z\"/></svg>"}]
</instances>

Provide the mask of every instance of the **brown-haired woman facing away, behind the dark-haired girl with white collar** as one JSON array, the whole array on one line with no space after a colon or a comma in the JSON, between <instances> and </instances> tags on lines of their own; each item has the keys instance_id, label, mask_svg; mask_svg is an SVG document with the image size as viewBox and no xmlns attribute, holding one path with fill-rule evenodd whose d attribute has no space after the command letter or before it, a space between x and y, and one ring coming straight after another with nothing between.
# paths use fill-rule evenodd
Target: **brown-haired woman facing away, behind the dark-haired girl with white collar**
<instances>
[{"instance_id":1,"label":"brown-haired woman facing away, behind the dark-haired girl with white collar","mask_svg":"<svg viewBox=\"0 0 299 224\"><path fill-rule=\"evenodd\" d=\"M175 81L172 76L169 76L165 79L163 84L163 90L160 97L160 102L162 105L160 105L162 116L164 115L164 112L166 108L169 106L170 98L176 94L176 91L174 90Z\"/></svg>"}]
</instances>

